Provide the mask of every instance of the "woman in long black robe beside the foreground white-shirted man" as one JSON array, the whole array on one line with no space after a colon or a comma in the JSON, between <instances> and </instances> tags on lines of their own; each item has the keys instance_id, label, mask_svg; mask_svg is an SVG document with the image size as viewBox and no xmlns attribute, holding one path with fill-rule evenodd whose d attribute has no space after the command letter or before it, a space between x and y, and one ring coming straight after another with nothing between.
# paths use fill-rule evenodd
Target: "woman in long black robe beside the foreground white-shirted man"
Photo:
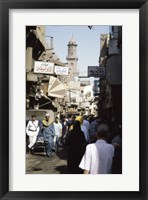
<instances>
[{"instance_id":1,"label":"woman in long black robe beside the foreground white-shirted man","mask_svg":"<svg viewBox=\"0 0 148 200\"><path fill-rule=\"evenodd\" d=\"M81 159L85 153L86 140L84 133L81 131L80 122L75 121L73 129L67 134L66 145L67 166L69 174L81 174L83 171L79 168Z\"/></svg>"}]
</instances>

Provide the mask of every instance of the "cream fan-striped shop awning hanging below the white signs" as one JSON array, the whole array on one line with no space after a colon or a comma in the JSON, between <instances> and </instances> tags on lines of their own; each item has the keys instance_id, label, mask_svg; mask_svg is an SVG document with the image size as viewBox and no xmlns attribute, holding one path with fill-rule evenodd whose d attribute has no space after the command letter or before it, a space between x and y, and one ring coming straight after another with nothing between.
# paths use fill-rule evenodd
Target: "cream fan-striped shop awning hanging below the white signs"
<instances>
[{"instance_id":1,"label":"cream fan-striped shop awning hanging below the white signs","mask_svg":"<svg viewBox=\"0 0 148 200\"><path fill-rule=\"evenodd\" d=\"M48 96L63 98L65 96L65 88L63 83L53 76L50 76L48 86Z\"/></svg>"}]
</instances>

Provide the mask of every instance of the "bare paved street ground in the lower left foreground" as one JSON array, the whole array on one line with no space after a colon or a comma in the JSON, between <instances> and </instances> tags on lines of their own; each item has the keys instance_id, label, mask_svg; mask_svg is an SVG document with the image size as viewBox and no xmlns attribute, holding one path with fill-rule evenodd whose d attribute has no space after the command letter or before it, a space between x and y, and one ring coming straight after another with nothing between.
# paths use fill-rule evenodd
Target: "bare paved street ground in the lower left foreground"
<instances>
[{"instance_id":1,"label":"bare paved street ground in the lower left foreground","mask_svg":"<svg viewBox=\"0 0 148 200\"><path fill-rule=\"evenodd\" d=\"M57 155L47 158L44 152L26 154L26 174L67 174L66 153L60 148Z\"/></svg>"}]
</instances>

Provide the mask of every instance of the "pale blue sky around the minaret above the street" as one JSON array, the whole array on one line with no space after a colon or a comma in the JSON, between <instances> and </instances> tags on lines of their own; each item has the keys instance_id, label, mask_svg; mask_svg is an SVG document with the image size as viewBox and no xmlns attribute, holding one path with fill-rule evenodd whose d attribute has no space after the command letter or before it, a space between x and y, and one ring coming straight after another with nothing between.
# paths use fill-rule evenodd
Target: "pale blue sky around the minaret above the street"
<instances>
[{"instance_id":1,"label":"pale blue sky around the minaret above the street","mask_svg":"<svg viewBox=\"0 0 148 200\"><path fill-rule=\"evenodd\" d=\"M88 66L98 66L100 53L100 34L109 33L109 26L46 26L46 36L53 37L54 51L60 60L66 63L67 44L74 36L77 42L77 68L80 75L87 76ZM50 42L50 37L46 37Z\"/></svg>"}]
</instances>

